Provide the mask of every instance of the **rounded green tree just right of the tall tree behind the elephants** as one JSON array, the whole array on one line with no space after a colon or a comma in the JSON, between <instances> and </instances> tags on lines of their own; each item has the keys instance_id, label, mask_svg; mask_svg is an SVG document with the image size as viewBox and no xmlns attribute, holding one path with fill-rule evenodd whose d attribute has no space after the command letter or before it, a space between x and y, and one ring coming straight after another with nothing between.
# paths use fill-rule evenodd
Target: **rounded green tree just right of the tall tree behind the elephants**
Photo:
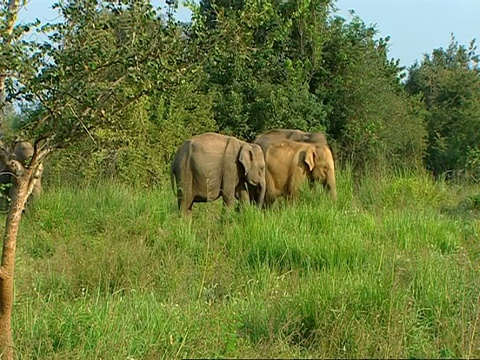
<instances>
[{"instance_id":1,"label":"rounded green tree just right of the tall tree behind the elephants","mask_svg":"<svg viewBox=\"0 0 480 360\"><path fill-rule=\"evenodd\" d=\"M337 154L358 168L379 158L393 166L421 163L424 126L415 101L400 84L398 60L388 60L389 38L358 16L328 22L322 65L310 88L323 99L326 129Z\"/></svg>"}]
</instances>

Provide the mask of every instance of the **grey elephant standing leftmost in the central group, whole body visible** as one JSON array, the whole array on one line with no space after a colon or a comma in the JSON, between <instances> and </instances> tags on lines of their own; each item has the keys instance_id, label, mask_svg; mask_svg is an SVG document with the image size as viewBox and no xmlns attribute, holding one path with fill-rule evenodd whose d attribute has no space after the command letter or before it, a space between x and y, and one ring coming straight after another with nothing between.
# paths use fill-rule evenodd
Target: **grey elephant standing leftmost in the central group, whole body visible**
<instances>
[{"instance_id":1,"label":"grey elephant standing leftmost in the central group, whole body visible","mask_svg":"<svg viewBox=\"0 0 480 360\"><path fill-rule=\"evenodd\" d=\"M196 135L175 154L171 183L177 188L178 208L191 214L193 203L209 202L220 196L226 206L235 199L250 200L247 185L256 189L255 202L263 206L265 158L259 145L217 133Z\"/></svg>"}]
</instances>

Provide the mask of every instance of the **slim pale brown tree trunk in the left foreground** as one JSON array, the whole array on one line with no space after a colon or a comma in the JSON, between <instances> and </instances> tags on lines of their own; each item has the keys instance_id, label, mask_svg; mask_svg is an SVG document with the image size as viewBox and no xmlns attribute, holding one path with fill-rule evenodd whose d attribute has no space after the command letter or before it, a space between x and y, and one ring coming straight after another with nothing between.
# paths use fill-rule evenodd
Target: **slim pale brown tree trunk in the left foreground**
<instances>
[{"instance_id":1,"label":"slim pale brown tree trunk in the left foreground","mask_svg":"<svg viewBox=\"0 0 480 360\"><path fill-rule=\"evenodd\" d=\"M24 169L23 174L14 181L14 193L5 224L3 238L2 264L0 267L0 358L13 359L13 337L11 316L13 308L13 273L15 269L15 249L18 227L23 208L28 197L31 169Z\"/></svg>"}]
</instances>

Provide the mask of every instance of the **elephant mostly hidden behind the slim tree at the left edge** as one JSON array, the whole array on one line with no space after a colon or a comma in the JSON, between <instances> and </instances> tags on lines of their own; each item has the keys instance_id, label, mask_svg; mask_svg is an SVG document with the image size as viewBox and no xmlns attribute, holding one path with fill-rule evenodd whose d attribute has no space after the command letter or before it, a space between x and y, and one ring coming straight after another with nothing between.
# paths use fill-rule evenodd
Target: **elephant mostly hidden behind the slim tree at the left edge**
<instances>
[{"instance_id":1,"label":"elephant mostly hidden behind the slim tree at the left edge","mask_svg":"<svg viewBox=\"0 0 480 360\"><path fill-rule=\"evenodd\" d=\"M15 158L22 164L26 165L30 161L34 153L33 145L28 141L19 141L15 144L13 152ZM28 203L31 203L40 197L42 193L42 174L43 174L43 164L40 164L38 170L33 175L34 176L34 185L32 192L28 198ZM0 161L0 208L6 210L8 207L8 198L12 197L13 189L12 184L14 183L13 174L11 169L8 168L3 162Z\"/></svg>"}]
</instances>

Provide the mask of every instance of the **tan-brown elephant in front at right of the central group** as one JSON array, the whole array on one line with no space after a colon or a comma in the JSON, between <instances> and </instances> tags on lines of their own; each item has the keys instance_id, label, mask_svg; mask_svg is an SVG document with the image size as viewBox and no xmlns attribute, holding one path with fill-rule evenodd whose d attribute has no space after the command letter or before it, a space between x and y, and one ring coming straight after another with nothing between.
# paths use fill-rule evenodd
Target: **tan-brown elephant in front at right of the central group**
<instances>
[{"instance_id":1,"label":"tan-brown elephant in front at right of the central group","mask_svg":"<svg viewBox=\"0 0 480 360\"><path fill-rule=\"evenodd\" d=\"M335 165L327 145L283 140L268 146L265 163L265 205L271 205L278 196L298 197L306 180L321 182L336 200Z\"/></svg>"}]
</instances>

